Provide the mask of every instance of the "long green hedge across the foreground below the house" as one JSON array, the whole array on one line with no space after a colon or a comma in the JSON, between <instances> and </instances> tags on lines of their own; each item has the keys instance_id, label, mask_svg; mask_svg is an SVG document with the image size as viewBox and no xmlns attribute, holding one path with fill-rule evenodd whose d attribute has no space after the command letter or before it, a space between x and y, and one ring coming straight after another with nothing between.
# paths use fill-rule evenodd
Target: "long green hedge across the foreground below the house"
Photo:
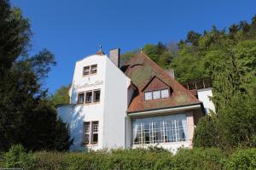
<instances>
[{"instance_id":1,"label":"long green hedge across the foreground below the house","mask_svg":"<svg viewBox=\"0 0 256 170\"><path fill-rule=\"evenodd\" d=\"M176 155L160 149L100 150L96 152L35 152L26 153L12 147L0 156L0 167L25 169L256 169L256 149L236 150L225 155L214 148L181 149Z\"/></svg>"}]
</instances>

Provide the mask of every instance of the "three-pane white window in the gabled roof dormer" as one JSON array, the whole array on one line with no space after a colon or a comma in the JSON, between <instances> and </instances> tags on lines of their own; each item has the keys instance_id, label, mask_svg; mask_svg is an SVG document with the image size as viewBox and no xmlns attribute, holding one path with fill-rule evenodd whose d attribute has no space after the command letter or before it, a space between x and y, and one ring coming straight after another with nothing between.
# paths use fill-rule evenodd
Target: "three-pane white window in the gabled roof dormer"
<instances>
[{"instance_id":1,"label":"three-pane white window in the gabled roof dormer","mask_svg":"<svg viewBox=\"0 0 256 170\"><path fill-rule=\"evenodd\" d=\"M144 93L145 100L150 99L164 99L170 97L169 89L160 89L160 90L154 90L154 91L147 91Z\"/></svg>"}]
</instances>

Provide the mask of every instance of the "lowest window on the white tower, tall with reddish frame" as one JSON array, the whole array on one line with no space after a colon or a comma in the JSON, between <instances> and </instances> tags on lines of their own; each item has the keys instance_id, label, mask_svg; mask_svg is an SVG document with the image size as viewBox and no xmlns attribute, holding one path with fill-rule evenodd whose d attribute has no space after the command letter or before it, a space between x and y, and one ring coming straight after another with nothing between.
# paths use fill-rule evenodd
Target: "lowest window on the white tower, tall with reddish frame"
<instances>
[{"instance_id":1,"label":"lowest window on the white tower, tall with reddish frame","mask_svg":"<svg viewBox=\"0 0 256 170\"><path fill-rule=\"evenodd\" d=\"M84 142L83 144L98 143L99 122L84 122Z\"/></svg>"}]
</instances>

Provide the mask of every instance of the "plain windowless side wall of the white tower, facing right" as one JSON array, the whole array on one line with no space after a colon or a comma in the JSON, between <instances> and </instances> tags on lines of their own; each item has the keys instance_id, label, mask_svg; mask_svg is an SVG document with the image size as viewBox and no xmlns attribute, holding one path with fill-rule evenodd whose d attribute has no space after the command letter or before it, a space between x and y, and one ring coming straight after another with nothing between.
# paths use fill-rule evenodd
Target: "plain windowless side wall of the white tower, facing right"
<instances>
[{"instance_id":1,"label":"plain windowless side wall of the white tower, facing right","mask_svg":"<svg viewBox=\"0 0 256 170\"><path fill-rule=\"evenodd\" d=\"M131 80L108 58L106 59L106 67L103 146L125 148L127 90Z\"/></svg>"}]
</instances>

